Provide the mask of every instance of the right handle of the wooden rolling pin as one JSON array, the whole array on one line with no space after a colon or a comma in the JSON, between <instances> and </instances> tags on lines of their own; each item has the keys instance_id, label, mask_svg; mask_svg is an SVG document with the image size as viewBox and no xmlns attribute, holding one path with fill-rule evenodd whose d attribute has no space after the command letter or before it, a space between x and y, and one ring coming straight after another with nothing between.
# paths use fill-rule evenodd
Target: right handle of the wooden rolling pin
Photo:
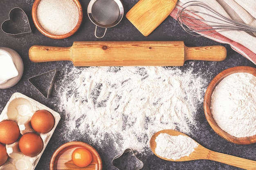
<instances>
[{"instance_id":1,"label":"right handle of the wooden rolling pin","mask_svg":"<svg viewBox=\"0 0 256 170\"><path fill-rule=\"evenodd\" d=\"M227 57L227 49L224 46L185 46L186 60L223 61Z\"/></svg>"}]
</instances>

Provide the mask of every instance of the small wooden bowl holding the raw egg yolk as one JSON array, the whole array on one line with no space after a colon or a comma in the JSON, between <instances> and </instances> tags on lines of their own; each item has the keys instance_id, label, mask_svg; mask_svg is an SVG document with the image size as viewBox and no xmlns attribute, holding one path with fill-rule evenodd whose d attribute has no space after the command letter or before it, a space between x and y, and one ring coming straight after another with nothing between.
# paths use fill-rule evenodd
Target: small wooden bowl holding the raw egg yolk
<instances>
[{"instance_id":1,"label":"small wooden bowl holding the raw egg yolk","mask_svg":"<svg viewBox=\"0 0 256 170\"><path fill-rule=\"evenodd\" d=\"M76 148L85 148L88 149L92 154L92 163L90 165L80 168L76 166L71 160L72 152ZM81 141L72 141L61 145L57 150L53 153L51 161L50 161L50 170L102 170L102 161L101 157L97 150L95 150L89 144L85 144Z\"/></svg>"}]
</instances>

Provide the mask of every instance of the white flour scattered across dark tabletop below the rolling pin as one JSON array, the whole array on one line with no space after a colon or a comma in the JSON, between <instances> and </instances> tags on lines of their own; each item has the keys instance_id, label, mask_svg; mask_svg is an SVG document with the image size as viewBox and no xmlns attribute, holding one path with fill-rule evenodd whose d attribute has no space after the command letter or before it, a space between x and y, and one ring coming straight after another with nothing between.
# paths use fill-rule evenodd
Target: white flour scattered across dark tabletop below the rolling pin
<instances>
[{"instance_id":1,"label":"white flour scattered across dark tabletop below the rolling pin","mask_svg":"<svg viewBox=\"0 0 256 170\"><path fill-rule=\"evenodd\" d=\"M202 104L205 81L176 67L74 67L63 79L60 110L67 132L88 135L92 143L112 138L117 150L149 150L158 130L190 134Z\"/></svg>"}]
</instances>

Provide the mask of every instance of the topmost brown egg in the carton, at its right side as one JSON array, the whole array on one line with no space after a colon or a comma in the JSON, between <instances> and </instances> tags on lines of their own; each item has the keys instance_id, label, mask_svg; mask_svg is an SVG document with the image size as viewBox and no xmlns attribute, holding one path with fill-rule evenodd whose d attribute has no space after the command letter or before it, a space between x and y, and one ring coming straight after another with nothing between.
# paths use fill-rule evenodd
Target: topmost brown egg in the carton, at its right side
<instances>
[{"instance_id":1,"label":"topmost brown egg in the carton, at its right side","mask_svg":"<svg viewBox=\"0 0 256 170\"><path fill-rule=\"evenodd\" d=\"M38 110L31 117L31 126L39 133L47 133L52 130L54 122L52 113L47 110Z\"/></svg>"}]
</instances>

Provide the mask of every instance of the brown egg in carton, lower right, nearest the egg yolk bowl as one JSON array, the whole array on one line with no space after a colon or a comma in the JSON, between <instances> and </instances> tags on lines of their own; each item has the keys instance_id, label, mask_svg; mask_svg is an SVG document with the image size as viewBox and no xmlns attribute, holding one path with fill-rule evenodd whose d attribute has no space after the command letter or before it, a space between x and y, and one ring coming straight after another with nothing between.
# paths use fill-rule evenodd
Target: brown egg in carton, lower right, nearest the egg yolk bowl
<instances>
[{"instance_id":1,"label":"brown egg in carton, lower right, nearest the egg yolk bowl","mask_svg":"<svg viewBox=\"0 0 256 170\"><path fill-rule=\"evenodd\" d=\"M24 155L34 157L43 149L43 140L40 135L29 132L20 138L19 148Z\"/></svg>"}]
</instances>

